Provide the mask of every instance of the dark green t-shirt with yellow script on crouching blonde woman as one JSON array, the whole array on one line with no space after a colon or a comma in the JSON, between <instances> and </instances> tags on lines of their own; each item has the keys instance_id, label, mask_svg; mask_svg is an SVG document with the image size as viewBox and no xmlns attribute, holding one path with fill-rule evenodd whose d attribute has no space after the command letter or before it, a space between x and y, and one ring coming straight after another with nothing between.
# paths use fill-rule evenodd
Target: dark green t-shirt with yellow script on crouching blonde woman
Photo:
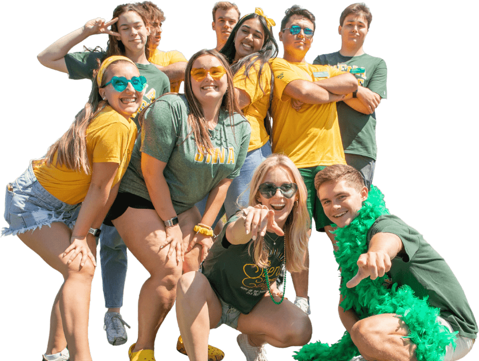
<instances>
[{"instance_id":1,"label":"dark green t-shirt with yellow script on crouching blonde woman","mask_svg":"<svg viewBox=\"0 0 479 361\"><path fill-rule=\"evenodd\" d=\"M266 283L263 269L254 265L252 255L248 253L252 241L246 244L231 244L226 238L227 226L237 219L236 215L231 216L223 231L216 237L202 264L202 273L218 297L241 313L248 314L261 301L269 285ZM268 279L273 283L280 275L284 261L284 236L266 232L265 241L270 262Z\"/></svg>"}]
</instances>

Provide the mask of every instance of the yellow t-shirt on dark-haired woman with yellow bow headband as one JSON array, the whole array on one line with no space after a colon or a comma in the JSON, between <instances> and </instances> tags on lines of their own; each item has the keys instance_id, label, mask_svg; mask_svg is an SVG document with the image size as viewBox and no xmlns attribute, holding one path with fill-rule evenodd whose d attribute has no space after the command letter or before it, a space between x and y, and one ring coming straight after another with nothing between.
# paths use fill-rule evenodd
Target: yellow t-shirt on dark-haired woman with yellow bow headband
<instances>
[{"instance_id":1,"label":"yellow t-shirt on dark-haired woman with yellow bow headband","mask_svg":"<svg viewBox=\"0 0 479 361\"><path fill-rule=\"evenodd\" d=\"M250 145L248 152L261 148L269 140L269 135L264 127L264 117L268 112L271 94L271 68L269 63L264 64L261 77L258 82L259 60L250 68L249 77L245 75L245 67L238 70L233 77L235 88L244 90L251 100L251 104L245 107L243 114L251 125ZM261 90L261 87L264 90Z\"/></svg>"}]
</instances>

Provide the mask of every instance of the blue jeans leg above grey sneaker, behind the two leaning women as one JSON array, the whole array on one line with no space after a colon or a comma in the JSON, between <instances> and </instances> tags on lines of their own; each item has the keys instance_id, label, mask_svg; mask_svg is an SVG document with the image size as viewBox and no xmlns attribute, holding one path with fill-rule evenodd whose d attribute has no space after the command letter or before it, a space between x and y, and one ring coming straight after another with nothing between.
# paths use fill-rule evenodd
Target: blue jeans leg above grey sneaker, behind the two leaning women
<instances>
[{"instance_id":1,"label":"blue jeans leg above grey sneaker, behind the two leaning women","mask_svg":"<svg viewBox=\"0 0 479 361\"><path fill-rule=\"evenodd\" d=\"M100 233L100 268L103 297L107 309L123 306L125 290L126 245L115 227L101 225Z\"/></svg>"}]
</instances>

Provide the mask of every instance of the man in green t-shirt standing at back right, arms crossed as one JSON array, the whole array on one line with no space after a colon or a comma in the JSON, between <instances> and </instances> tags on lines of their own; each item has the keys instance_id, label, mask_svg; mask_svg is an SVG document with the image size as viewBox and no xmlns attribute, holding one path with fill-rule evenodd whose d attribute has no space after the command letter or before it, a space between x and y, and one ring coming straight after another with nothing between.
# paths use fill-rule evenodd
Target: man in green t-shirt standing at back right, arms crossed
<instances>
[{"instance_id":1,"label":"man in green t-shirt standing at back right, arms crossed","mask_svg":"<svg viewBox=\"0 0 479 361\"><path fill-rule=\"evenodd\" d=\"M381 99L387 98L386 62L363 50L372 20L371 10L364 2L346 7L339 18L341 49L318 55L313 61L350 72L357 78L357 92L336 105L346 163L361 173L368 188L373 181L378 151L375 109Z\"/></svg>"}]
</instances>

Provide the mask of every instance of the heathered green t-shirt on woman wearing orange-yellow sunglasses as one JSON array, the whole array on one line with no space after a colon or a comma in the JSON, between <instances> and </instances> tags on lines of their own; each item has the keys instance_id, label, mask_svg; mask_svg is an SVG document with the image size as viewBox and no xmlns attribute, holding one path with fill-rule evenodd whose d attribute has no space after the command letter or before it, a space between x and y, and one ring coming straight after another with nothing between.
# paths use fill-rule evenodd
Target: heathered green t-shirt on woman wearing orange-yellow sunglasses
<instances>
[{"instance_id":1,"label":"heathered green t-shirt on woman wearing orange-yellow sunglasses","mask_svg":"<svg viewBox=\"0 0 479 361\"><path fill-rule=\"evenodd\" d=\"M141 153L167 163L163 174L177 214L200 202L221 180L234 179L245 161L251 127L247 119L220 110L218 124L210 130L213 155L202 155L188 125L188 103L184 95L168 94L147 109L133 154L120 185L128 192L151 200L143 173Z\"/></svg>"}]
</instances>

